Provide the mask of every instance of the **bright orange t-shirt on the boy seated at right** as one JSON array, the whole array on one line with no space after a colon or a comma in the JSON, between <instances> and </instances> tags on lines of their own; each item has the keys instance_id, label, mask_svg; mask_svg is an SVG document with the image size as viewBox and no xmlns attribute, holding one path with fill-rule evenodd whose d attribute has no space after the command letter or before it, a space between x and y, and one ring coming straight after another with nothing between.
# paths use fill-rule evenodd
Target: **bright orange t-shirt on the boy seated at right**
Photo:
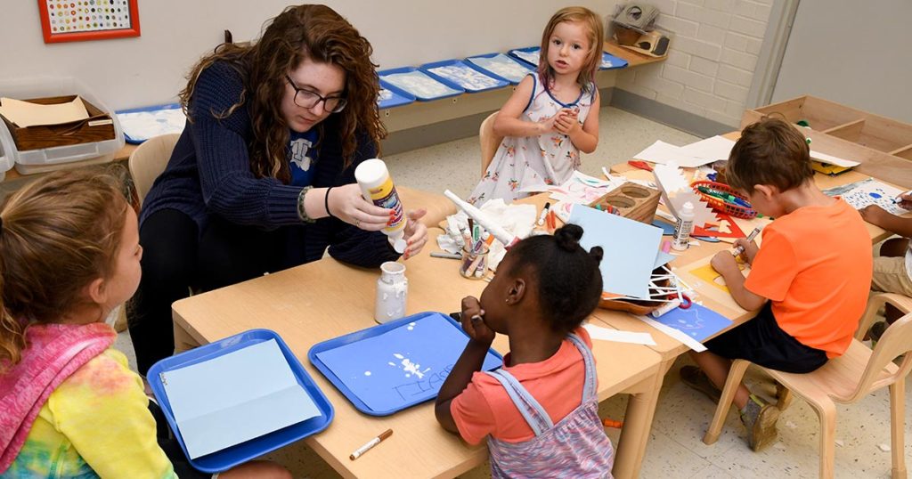
<instances>
[{"instance_id":1,"label":"bright orange t-shirt on the boy seated at right","mask_svg":"<svg viewBox=\"0 0 912 479\"><path fill-rule=\"evenodd\" d=\"M772 301L783 331L836 358L852 343L873 267L865 222L839 198L803 206L764 228L744 286Z\"/></svg>"}]
</instances>

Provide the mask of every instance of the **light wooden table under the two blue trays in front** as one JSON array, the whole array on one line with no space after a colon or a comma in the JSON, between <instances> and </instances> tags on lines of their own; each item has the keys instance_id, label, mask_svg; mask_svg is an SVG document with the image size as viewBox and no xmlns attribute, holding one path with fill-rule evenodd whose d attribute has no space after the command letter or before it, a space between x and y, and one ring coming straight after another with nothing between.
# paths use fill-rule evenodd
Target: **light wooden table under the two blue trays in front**
<instances>
[{"instance_id":1,"label":"light wooden table under the two blue trays in front","mask_svg":"<svg viewBox=\"0 0 912 479\"><path fill-rule=\"evenodd\" d=\"M431 239L438 234L431 233ZM409 278L408 313L455 311L465 296L479 296L487 283L462 278L458 261L431 258L431 245L405 262ZM174 303L175 328L201 343L251 328L278 332L326 393L336 417L306 443L348 477L451 477L487 459L484 446L470 447L434 419L431 402L378 418L361 414L306 359L317 342L374 326L378 271L346 266L331 258L255 278ZM599 326L609 327L597 318ZM505 353L498 335L493 347ZM651 411L658 400L660 357L644 346L595 341L598 399L634 394L617 444L615 475L634 477L648 439ZM348 454L379 432L395 432L357 461Z\"/></svg>"}]
</instances>

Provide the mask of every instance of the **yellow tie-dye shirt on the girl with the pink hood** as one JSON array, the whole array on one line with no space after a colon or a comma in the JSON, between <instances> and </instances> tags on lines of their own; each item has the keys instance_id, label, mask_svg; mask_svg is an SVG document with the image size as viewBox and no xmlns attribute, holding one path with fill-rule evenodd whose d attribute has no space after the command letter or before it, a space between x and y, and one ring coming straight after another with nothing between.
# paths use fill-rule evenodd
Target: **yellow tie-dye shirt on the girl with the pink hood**
<instances>
[{"instance_id":1,"label":"yellow tie-dye shirt on the girl with the pink hood","mask_svg":"<svg viewBox=\"0 0 912 479\"><path fill-rule=\"evenodd\" d=\"M142 380L106 349L57 390L38 413L3 477L172 478L155 435Z\"/></svg>"}]
</instances>

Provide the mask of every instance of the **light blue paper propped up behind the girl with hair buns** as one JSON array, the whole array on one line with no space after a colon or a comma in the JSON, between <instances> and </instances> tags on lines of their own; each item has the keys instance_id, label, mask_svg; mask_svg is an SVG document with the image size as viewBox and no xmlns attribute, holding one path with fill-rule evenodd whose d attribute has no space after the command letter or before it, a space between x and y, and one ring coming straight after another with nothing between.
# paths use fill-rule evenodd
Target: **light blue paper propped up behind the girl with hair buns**
<instances>
[{"instance_id":1,"label":"light blue paper propped up behind the girl with hair buns","mask_svg":"<svg viewBox=\"0 0 912 479\"><path fill-rule=\"evenodd\" d=\"M649 297L649 278L656 264L662 230L617 214L575 204L569 223L583 227L579 244L586 250L601 246L605 252L599 270L608 293Z\"/></svg>"}]
</instances>

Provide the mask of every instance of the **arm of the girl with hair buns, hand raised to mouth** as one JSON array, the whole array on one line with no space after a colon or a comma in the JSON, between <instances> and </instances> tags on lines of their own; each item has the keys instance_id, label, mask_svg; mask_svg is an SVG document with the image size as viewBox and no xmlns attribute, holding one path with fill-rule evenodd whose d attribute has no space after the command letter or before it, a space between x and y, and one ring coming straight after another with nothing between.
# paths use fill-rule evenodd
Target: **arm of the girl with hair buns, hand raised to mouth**
<instances>
[{"instance_id":1,"label":"arm of the girl with hair buns, hand raised to mouth","mask_svg":"<svg viewBox=\"0 0 912 479\"><path fill-rule=\"evenodd\" d=\"M474 297L462 299L462 329L469 333L469 344L465 345L462 355L453 366L453 370L440 386L437 402L434 404L434 415L443 429L459 433L456 422L453 421L450 403L459 396L462 390L472 381L472 374L482 370L484 356L491 348L495 333L484 324L481 305Z\"/></svg>"}]
</instances>

